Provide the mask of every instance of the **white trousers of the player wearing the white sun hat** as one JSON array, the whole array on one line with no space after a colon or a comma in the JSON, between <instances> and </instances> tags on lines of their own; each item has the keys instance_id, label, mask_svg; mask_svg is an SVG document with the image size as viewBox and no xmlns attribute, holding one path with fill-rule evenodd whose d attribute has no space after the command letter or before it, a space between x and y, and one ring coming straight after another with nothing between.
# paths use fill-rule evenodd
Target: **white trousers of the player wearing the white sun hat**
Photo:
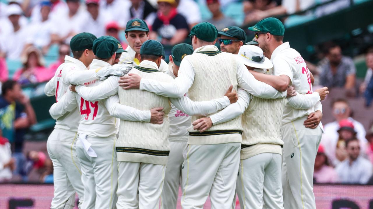
<instances>
[{"instance_id":1,"label":"white trousers of the player wearing the white sun hat","mask_svg":"<svg viewBox=\"0 0 373 209\"><path fill-rule=\"evenodd\" d=\"M262 209L263 202L266 209L283 209L281 155L261 153L241 160L236 192L241 209Z\"/></svg>"}]
</instances>

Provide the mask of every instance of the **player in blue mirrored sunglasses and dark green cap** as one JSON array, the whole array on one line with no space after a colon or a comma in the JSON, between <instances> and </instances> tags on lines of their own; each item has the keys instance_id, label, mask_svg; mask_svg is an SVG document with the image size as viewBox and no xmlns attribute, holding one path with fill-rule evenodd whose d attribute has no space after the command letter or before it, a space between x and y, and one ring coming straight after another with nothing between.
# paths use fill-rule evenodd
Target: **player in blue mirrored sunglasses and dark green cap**
<instances>
[{"instance_id":1,"label":"player in blue mirrored sunglasses and dark green cap","mask_svg":"<svg viewBox=\"0 0 373 209\"><path fill-rule=\"evenodd\" d=\"M217 33L220 50L231 54L238 54L239 48L246 42L246 33L237 26L228 26Z\"/></svg>"}]
</instances>

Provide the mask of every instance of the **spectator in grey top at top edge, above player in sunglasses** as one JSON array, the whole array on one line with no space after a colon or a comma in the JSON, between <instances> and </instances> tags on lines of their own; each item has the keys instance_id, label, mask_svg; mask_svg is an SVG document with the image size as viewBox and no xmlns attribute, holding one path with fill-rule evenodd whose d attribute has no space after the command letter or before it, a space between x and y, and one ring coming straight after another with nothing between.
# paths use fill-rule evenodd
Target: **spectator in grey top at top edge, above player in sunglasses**
<instances>
[{"instance_id":1,"label":"spectator in grey top at top edge, above player in sunglasses","mask_svg":"<svg viewBox=\"0 0 373 209\"><path fill-rule=\"evenodd\" d=\"M228 25L237 25L231 17L227 17L222 13L219 0L207 0L206 3L212 14L212 17L206 21L213 24L217 30L220 31Z\"/></svg>"}]
</instances>

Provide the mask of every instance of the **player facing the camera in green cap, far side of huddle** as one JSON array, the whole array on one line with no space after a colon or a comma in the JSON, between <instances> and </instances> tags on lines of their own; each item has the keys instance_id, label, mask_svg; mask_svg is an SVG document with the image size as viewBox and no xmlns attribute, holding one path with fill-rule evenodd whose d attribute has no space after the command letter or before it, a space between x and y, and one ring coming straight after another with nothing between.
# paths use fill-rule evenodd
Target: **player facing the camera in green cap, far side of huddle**
<instances>
[{"instance_id":1,"label":"player facing the camera in green cap, far side of huddle","mask_svg":"<svg viewBox=\"0 0 373 209\"><path fill-rule=\"evenodd\" d=\"M140 64L140 49L141 45L149 39L149 28L146 22L139 18L129 20L124 30L126 33L126 40L128 47L126 52L123 52L120 56L120 63L133 62L134 66ZM162 60L159 67L159 71L165 73L168 70L167 63Z\"/></svg>"}]
</instances>

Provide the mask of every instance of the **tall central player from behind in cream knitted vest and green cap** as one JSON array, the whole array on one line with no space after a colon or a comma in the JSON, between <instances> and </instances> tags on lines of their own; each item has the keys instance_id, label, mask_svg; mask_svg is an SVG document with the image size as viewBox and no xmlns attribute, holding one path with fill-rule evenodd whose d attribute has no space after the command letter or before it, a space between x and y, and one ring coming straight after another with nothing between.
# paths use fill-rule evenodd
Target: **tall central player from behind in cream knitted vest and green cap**
<instances>
[{"instance_id":1,"label":"tall central player from behind in cream knitted vest and green cap","mask_svg":"<svg viewBox=\"0 0 373 209\"><path fill-rule=\"evenodd\" d=\"M211 23L195 25L191 33L192 55L184 57L178 77L172 83L141 78L123 77L125 89L139 88L158 95L182 97L187 91L194 101L210 100L222 96L226 89L241 87L255 96L284 97L282 92L256 80L236 56L218 51L213 44L217 29ZM192 116L192 120L201 116ZM236 172L242 141L239 118L214 126L204 133L188 129L188 148L184 160L182 207L203 208L210 195L212 208L231 208L235 194Z\"/></svg>"}]
</instances>

